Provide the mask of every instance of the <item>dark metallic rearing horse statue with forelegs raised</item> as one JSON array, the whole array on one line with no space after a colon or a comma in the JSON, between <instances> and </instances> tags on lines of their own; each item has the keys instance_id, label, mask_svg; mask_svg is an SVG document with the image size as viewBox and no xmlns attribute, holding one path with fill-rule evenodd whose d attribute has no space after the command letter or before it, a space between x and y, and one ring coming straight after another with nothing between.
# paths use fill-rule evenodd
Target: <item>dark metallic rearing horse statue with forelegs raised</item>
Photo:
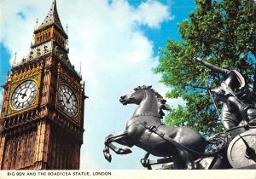
<instances>
[{"instance_id":1,"label":"dark metallic rearing horse statue with forelegs raised","mask_svg":"<svg viewBox=\"0 0 256 179\"><path fill-rule=\"evenodd\" d=\"M195 168L194 161L199 157L196 153L205 152L207 140L191 128L163 124L160 118L164 115L162 110L166 109L166 100L151 86L139 86L122 95L119 101L123 105L134 103L138 107L127 121L125 131L106 137L103 150L105 159L111 162L109 148L115 153L127 154L131 153L127 147L137 146L147 151L144 159L150 153L157 157L172 158L174 169ZM127 147L115 147L113 142Z\"/></svg>"}]
</instances>

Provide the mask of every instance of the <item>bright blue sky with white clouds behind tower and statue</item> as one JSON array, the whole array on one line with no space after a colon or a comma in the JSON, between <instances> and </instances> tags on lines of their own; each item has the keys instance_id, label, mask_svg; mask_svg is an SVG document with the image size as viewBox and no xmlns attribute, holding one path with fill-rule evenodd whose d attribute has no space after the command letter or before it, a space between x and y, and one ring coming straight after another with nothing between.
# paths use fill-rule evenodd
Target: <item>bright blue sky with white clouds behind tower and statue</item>
<instances>
[{"instance_id":1,"label":"bright blue sky with white clouds behind tower and statue","mask_svg":"<svg viewBox=\"0 0 256 179\"><path fill-rule=\"evenodd\" d=\"M50 3L1 1L0 84L15 52L17 61L28 54L36 19L39 23L44 20ZM62 26L69 26L70 61L77 69L82 62L86 95L90 97L84 108L81 169L143 169L139 161L144 152L137 147L128 155L112 152L113 162L109 164L102 155L103 141L108 134L122 131L135 109L122 106L120 95L143 84L152 84L162 95L168 90L152 69L166 39L180 39L177 24L195 9L194 1L57 0L57 8ZM182 102L168 101L172 106Z\"/></svg>"}]
</instances>

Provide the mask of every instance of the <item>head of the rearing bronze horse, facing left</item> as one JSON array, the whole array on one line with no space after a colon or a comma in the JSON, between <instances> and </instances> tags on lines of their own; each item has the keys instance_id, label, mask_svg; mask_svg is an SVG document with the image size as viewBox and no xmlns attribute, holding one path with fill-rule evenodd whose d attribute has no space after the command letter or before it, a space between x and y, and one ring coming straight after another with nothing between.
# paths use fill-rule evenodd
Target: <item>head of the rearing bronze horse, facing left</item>
<instances>
[{"instance_id":1,"label":"head of the rearing bronze horse, facing left","mask_svg":"<svg viewBox=\"0 0 256 179\"><path fill-rule=\"evenodd\" d=\"M143 98L145 97L145 90L149 90L152 86L138 86L137 88L131 90L125 95L122 95L119 101L123 105L127 104L137 104L139 105Z\"/></svg>"}]
</instances>

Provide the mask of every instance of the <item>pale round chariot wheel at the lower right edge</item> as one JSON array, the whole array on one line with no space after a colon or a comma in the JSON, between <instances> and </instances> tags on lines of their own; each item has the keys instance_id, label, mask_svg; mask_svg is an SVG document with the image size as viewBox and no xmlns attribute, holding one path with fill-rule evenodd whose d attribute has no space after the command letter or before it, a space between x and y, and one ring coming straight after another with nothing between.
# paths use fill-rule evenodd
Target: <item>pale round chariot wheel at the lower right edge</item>
<instances>
[{"instance_id":1,"label":"pale round chariot wheel at the lower right edge","mask_svg":"<svg viewBox=\"0 0 256 179\"><path fill-rule=\"evenodd\" d=\"M233 168L256 167L256 129L236 136L230 142L227 156Z\"/></svg>"}]
</instances>

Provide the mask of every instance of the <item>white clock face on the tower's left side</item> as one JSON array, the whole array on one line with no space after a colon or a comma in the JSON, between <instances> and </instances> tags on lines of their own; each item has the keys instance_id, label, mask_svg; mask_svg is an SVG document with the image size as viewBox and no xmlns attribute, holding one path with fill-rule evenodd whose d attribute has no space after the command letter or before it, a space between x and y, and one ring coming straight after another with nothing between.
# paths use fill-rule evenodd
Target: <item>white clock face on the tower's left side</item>
<instances>
[{"instance_id":1,"label":"white clock face on the tower's left side","mask_svg":"<svg viewBox=\"0 0 256 179\"><path fill-rule=\"evenodd\" d=\"M11 97L11 105L15 110L28 107L37 95L37 84L27 80L20 84Z\"/></svg>"}]
</instances>

